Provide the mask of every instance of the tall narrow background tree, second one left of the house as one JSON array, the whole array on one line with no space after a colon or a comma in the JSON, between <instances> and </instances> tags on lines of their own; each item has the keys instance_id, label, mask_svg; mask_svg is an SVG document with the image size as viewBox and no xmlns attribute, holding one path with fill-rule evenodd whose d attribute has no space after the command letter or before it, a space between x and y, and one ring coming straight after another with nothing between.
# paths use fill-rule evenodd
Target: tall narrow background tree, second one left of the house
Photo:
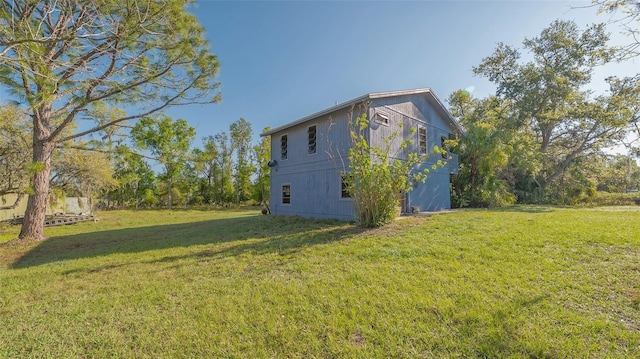
<instances>
[{"instance_id":1,"label":"tall narrow background tree, second one left of the house","mask_svg":"<svg viewBox=\"0 0 640 359\"><path fill-rule=\"evenodd\" d=\"M236 205L249 198L251 192L251 174L254 171L251 158L251 123L244 118L229 126L231 147L235 152L235 166L233 168L233 185Z\"/></svg>"}]
</instances>

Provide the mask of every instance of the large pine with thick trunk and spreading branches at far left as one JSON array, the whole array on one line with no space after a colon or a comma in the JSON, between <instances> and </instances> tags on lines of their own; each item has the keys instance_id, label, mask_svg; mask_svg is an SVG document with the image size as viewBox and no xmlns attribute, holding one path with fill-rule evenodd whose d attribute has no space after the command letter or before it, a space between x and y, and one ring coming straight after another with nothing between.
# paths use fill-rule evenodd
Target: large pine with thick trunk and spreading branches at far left
<instances>
[{"instance_id":1,"label":"large pine with thick trunk and spreading branches at far left","mask_svg":"<svg viewBox=\"0 0 640 359\"><path fill-rule=\"evenodd\" d=\"M44 239L56 145L174 105L219 101L218 61L189 0L14 0L0 4L0 84L33 122L33 174L21 239ZM126 116L75 124L96 102ZM71 131L73 130L73 131Z\"/></svg>"}]
</instances>

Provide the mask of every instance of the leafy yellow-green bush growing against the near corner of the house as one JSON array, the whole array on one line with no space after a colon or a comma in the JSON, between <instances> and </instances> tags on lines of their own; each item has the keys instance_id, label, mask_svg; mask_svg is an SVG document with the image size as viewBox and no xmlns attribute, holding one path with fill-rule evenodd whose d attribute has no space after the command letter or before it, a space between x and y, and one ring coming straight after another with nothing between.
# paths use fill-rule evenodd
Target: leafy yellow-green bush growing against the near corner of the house
<instances>
[{"instance_id":1,"label":"leafy yellow-green bush growing against the near corner of the house","mask_svg":"<svg viewBox=\"0 0 640 359\"><path fill-rule=\"evenodd\" d=\"M429 170L412 172L424 160L417 153L409 153L405 160L392 157L397 131L385 138L381 147L370 145L366 113L352 120L350 126L349 173L344 181L358 224L380 227L397 217L400 196L413 189L414 181L424 183ZM401 148L406 148L410 142L402 141Z\"/></svg>"}]
</instances>

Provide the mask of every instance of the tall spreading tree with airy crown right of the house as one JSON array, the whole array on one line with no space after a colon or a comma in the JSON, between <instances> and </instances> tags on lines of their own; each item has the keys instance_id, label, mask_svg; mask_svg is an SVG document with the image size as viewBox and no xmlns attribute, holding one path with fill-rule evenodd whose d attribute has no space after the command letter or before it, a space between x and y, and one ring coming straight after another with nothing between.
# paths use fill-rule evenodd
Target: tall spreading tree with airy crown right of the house
<instances>
[{"instance_id":1,"label":"tall spreading tree with airy crown right of the house","mask_svg":"<svg viewBox=\"0 0 640 359\"><path fill-rule=\"evenodd\" d=\"M540 36L524 40L530 61L521 63L518 50L499 44L474 68L497 85L497 97L513 111L513 125L535 137L542 166L532 180L541 200L557 198L554 190L579 173L572 167L583 157L624 136L628 97L613 85L609 94L595 98L583 89L595 66L612 59L607 40L604 25L580 31L571 21L555 21Z\"/></svg>"}]
</instances>

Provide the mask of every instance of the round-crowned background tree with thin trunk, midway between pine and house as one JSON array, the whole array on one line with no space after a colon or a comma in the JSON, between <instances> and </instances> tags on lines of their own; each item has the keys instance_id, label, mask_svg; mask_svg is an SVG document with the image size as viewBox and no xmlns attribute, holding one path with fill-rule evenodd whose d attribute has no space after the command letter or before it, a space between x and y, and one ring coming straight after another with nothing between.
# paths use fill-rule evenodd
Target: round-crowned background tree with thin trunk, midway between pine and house
<instances>
[{"instance_id":1,"label":"round-crowned background tree with thin trunk, midway between pine and house","mask_svg":"<svg viewBox=\"0 0 640 359\"><path fill-rule=\"evenodd\" d=\"M172 185L182 171L189 152L189 146L196 131L187 121L161 115L156 118L145 117L131 130L136 145L151 152L152 156L164 167L167 181L167 208L172 205Z\"/></svg>"}]
</instances>

